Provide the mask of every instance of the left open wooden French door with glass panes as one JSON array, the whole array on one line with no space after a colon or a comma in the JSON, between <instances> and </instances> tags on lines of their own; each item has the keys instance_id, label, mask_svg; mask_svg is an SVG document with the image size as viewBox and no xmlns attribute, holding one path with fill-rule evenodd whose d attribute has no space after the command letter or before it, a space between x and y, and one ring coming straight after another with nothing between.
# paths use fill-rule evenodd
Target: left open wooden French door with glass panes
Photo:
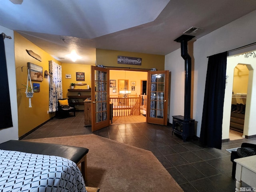
<instances>
[{"instance_id":1,"label":"left open wooden French door with glass panes","mask_svg":"<svg viewBox=\"0 0 256 192\"><path fill-rule=\"evenodd\" d=\"M91 66L92 132L109 126L109 70Z\"/></svg>"}]
</instances>

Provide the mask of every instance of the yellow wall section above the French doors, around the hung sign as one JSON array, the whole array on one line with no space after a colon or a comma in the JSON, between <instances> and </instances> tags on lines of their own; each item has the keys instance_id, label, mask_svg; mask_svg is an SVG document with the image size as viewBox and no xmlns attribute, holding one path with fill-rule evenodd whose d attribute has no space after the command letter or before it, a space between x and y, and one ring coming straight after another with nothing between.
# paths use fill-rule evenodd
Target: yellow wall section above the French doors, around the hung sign
<instances>
[{"instance_id":1,"label":"yellow wall section above the French doors, around the hung sign","mask_svg":"<svg viewBox=\"0 0 256 192\"><path fill-rule=\"evenodd\" d=\"M141 65L118 64L117 56L129 56L142 58ZM164 70L164 55L153 55L144 53L124 52L115 50L96 49L96 64L112 67L128 67L151 69L156 68L158 71Z\"/></svg>"}]
</instances>

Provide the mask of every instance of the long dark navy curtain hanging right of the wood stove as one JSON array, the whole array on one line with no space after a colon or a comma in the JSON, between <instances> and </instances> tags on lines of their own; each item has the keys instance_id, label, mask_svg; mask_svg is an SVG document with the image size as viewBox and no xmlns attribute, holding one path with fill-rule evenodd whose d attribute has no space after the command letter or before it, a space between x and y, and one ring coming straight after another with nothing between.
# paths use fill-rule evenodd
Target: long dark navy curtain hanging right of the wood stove
<instances>
[{"instance_id":1,"label":"long dark navy curtain hanging right of the wood stove","mask_svg":"<svg viewBox=\"0 0 256 192\"><path fill-rule=\"evenodd\" d=\"M200 142L221 149L227 53L208 58Z\"/></svg>"}]
</instances>

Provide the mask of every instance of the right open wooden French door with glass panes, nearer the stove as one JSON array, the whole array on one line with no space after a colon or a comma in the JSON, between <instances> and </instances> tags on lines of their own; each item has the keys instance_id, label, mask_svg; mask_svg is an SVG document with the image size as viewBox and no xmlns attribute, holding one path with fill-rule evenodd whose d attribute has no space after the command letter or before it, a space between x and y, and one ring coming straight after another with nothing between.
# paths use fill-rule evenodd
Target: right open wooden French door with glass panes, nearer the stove
<instances>
[{"instance_id":1,"label":"right open wooden French door with glass panes, nearer the stove","mask_svg":"<svg viewBox=\"0 0 256 192\"><path fill-rule=\"evenodd\" d=\"M169 71L148 72L147 123L167 125Z\"/></svg>"}]
</instances>

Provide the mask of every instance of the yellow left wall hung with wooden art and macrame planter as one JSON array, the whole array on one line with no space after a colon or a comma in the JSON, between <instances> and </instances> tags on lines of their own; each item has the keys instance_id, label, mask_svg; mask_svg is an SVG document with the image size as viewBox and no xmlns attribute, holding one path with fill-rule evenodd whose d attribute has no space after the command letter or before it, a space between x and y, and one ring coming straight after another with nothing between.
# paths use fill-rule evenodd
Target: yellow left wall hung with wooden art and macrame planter
<instances>
[{"instance_id":1,"label":"yellow left wall hung with wooden art and macrame planter","mask_svg":"<svg viewBox=\"0 0 256 192\"><path fill-rule=\"evenodd\" d=\"M27 50L32 50L42 58L42 62L28 55ZM32 81L40 84L40 92L34 93L31 98L32 108L29 108L28 98L22 84L26 85L28 70L27 62L39 65L49 72L49 60L61 64L44 50L14 32L14 51L16 66L16 86L17 86L17 103L18 103L18 136L23 136L30 130L49 120L53 114L47 114L49 110L49 83L48 76L44 76L42 82ZM23 68L21 68L24 66ZM22 71L23 70L23 71ZM15 73L14 73L15 75Z\"/></svg>"}]
</instances>

